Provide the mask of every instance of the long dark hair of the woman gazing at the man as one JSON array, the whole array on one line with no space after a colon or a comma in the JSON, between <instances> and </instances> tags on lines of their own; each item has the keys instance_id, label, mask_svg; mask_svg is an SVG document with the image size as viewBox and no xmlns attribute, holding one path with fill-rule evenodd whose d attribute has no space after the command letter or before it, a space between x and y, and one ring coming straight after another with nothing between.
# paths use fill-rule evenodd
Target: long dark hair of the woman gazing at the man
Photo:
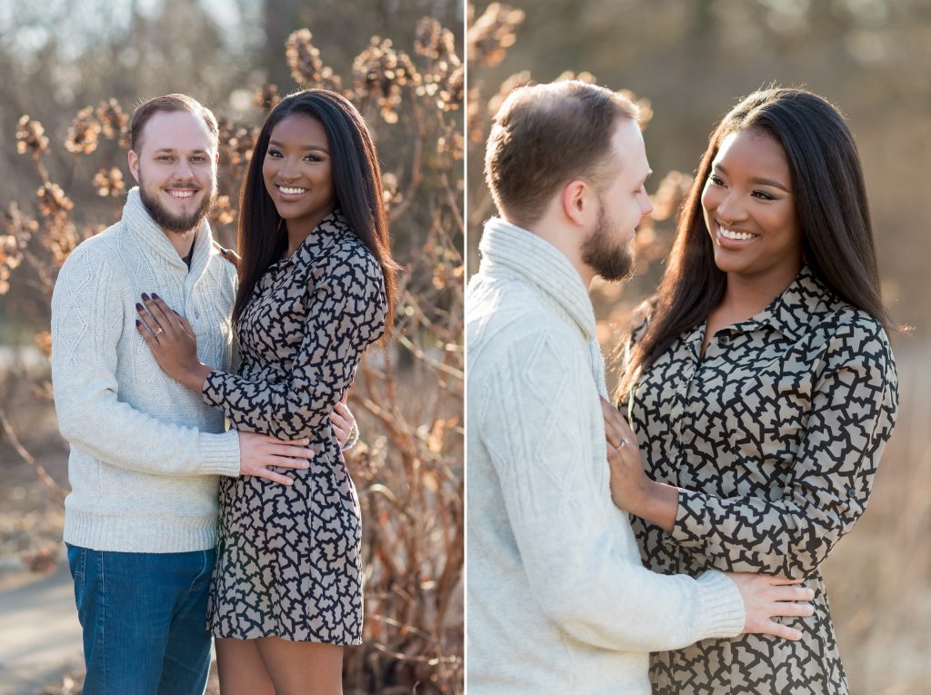
<instances>
[{"instance_id":1,"label":"long dark hair of the woman gazing at the man","mask_svg":"<svg viewBox=\"0 0 931 695\"><path fill-rule=\"evenodd\" d=\"M891 325L880 296L857 144L843 116L803 89L763 89L740 101L711 134L682 206L666 273L651 302L652 319L629 355L618 389L621 399L683 331L706 320L722 301L726 274L714 262L701 194L722 140L743 130L770 136L786 153L804 258L814 274L843 301L887 330Z\"/></svg>"}]
</instances>

